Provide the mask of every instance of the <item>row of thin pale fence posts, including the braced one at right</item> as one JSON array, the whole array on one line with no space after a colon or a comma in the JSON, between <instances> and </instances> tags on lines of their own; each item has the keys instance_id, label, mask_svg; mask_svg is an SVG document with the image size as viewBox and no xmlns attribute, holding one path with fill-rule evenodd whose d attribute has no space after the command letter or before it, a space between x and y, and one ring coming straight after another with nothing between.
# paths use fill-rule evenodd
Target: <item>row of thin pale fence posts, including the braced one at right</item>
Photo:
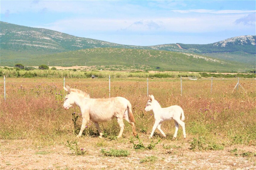
<instances>
[{"instance_id":1,"label":"row of thin pale fence posts, including the braced one at right","mask_svg":"<svg viewBox=\"0 0 256 170\"><path fill-rule=\"evenodd\" d=\"M238 85L239 84L239 77L238 77L238 82L235 85L236 90L238 90ZM65 77L63 79L63 87L65 87ZM244 90L244 88L240 85L240 87ZM235 90L233 89L233 91ZM182 77L180 76L180 90L181 90L181 96L182 96ZM232 93L233 93L232 91ZM212 81L211 81L211 93L212 93ZM148 96L148 78L147 78L147 96ZM5 89L5 76L4 76L4 98L6 100L6 89ZM110 75L109 75L109 98L110 98Z\"/></svg>"}]
</instances>

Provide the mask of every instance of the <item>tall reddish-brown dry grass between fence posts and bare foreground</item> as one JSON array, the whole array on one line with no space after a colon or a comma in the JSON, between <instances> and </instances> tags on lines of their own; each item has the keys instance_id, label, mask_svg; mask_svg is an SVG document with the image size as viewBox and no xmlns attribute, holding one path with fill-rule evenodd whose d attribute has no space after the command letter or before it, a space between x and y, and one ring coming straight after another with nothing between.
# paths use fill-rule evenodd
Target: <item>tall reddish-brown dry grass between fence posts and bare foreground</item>
<instances>
[{"instance_id":1,"label":"tall reddish-brown dry grass between fence posts and bare foreground","mask_svg":"<svg viewBox=\"0 0 256 170\"><path fill-rule=\"evenodd\" d=\"M232 93L237 79L183 80L183 95L180 95L180 79L150 79L149 94L153 94L162 107L180 105L185 113L188 139L203 137L209 144L256 145L256 89L254 79L240 79L238 91ZM108 79L66 79L66 85L88 92L92 98L109 97ZM72 113L80 110L73 107L63 110L62 79L8 78L6 101L3 84L0 92L0 138L56 138L74 135ZM146 79L113 79L111 97L122 96L130 100L139 134L149 135L154 124L153 112L145 112L148 100ZM79 116L79 115L78 115ZM78 122L81 125L81 116ZM125 123L124 136L130 137L131 127ZM105 135L117 135L119 126L115 120L100 124ZM165 122L162 129L172 137L173 121ZM85 135L95 136L96 128L89 122ZM160 133L155 134L160 137ZM182 133L178 131L178 140ZM58 141L55 141L58 142Z\"/></svg>"}]
</instances>

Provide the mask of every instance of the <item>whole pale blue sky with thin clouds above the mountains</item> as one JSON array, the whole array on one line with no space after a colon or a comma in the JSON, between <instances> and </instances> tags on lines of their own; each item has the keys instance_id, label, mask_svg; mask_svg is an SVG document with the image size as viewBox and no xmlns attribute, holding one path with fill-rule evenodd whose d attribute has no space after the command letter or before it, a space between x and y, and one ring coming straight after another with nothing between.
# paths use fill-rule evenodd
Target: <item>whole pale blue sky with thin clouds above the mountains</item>
<instances>
[{"instance_id":1,"label":"whole pale blue sky with thin clouds above the mountains","mask_svg":"<svg viewBox=\"0 0 256 170\"><path fill-rule=\"evenodd\" d=\"M1 21L124 45L255 35L256 1L0 1Z\"/></svg>"}]
</instances>

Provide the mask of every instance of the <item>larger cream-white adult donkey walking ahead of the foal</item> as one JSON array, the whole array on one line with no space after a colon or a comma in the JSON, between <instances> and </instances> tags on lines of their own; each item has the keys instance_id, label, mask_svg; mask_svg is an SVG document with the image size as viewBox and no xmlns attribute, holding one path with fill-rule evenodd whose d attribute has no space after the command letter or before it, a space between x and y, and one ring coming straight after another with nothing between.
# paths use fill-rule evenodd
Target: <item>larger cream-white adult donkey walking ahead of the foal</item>
<instances>
[{"instance_id":1,"label":"larger cream-white adult donkey walking ahead of the foal","mask_svg":"<svg viewBox=\"0 0 256 170\"><path fill-rule=\"evenodd\" d=\"M86 123L91 120L99 131L99 138L102 138L102 131L100 130L98 122L107 122L113 118L117 119L120 126L118 138L122 137L125 124L123 118L131 124L134 136L137 135L134 125L134 117L131 111L131 103L123 97L112 97L106 99L91 99L89 94L78 89L64 87L67 91L63 108L69 109L73 104L76 104L82 113L82 126L77 137L82 136Z\"/></svg>"}]
</instances>

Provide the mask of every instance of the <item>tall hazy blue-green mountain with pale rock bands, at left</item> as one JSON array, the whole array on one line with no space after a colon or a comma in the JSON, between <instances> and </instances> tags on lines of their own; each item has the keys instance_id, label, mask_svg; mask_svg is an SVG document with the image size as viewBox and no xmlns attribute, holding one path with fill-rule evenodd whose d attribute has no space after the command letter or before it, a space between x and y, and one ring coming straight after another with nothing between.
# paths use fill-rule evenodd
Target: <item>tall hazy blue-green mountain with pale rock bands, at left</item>
<instances>
[{"instance_id":1,"label":"tall hazy blue-green mountain with pale rock bands, at left","mask_svg":"<svg viewBox=\"0 0 256 170\"><path fill-rule=\"evenodd\" d=\"M32 28L6 22L0 22L1 49L11 51L31 51L55 53L74 51L86 48L130 48L157 49L186 52L175 44L156 46L122 45L111 42L76 37L58 31L43 28Z\"/></svg>"}]
</instances>

